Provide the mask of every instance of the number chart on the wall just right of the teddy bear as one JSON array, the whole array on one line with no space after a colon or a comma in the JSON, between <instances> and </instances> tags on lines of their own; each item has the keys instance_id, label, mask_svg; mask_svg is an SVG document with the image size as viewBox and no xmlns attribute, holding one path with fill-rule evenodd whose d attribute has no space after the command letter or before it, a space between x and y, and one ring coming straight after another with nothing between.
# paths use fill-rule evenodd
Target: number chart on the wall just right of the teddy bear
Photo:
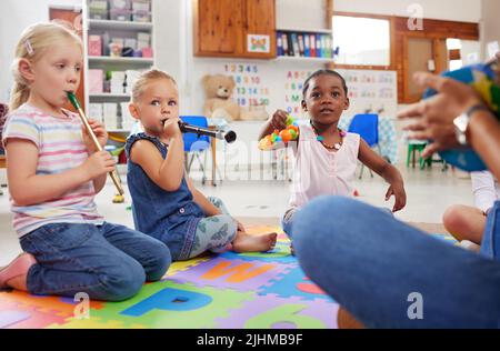
<instances>
[{"instance_id":1,"label":"number chart on the wall just right of the teddy bear","mask_svg":"<svg viewBox=\"0 0 500 351\"><path fill-rule=\"evenodd\" d=\"M263 82L258 64L226 63L224 74L236 82L233 99L243 108L270 104L269 87Z\"/></svg>"}]
</instances>

